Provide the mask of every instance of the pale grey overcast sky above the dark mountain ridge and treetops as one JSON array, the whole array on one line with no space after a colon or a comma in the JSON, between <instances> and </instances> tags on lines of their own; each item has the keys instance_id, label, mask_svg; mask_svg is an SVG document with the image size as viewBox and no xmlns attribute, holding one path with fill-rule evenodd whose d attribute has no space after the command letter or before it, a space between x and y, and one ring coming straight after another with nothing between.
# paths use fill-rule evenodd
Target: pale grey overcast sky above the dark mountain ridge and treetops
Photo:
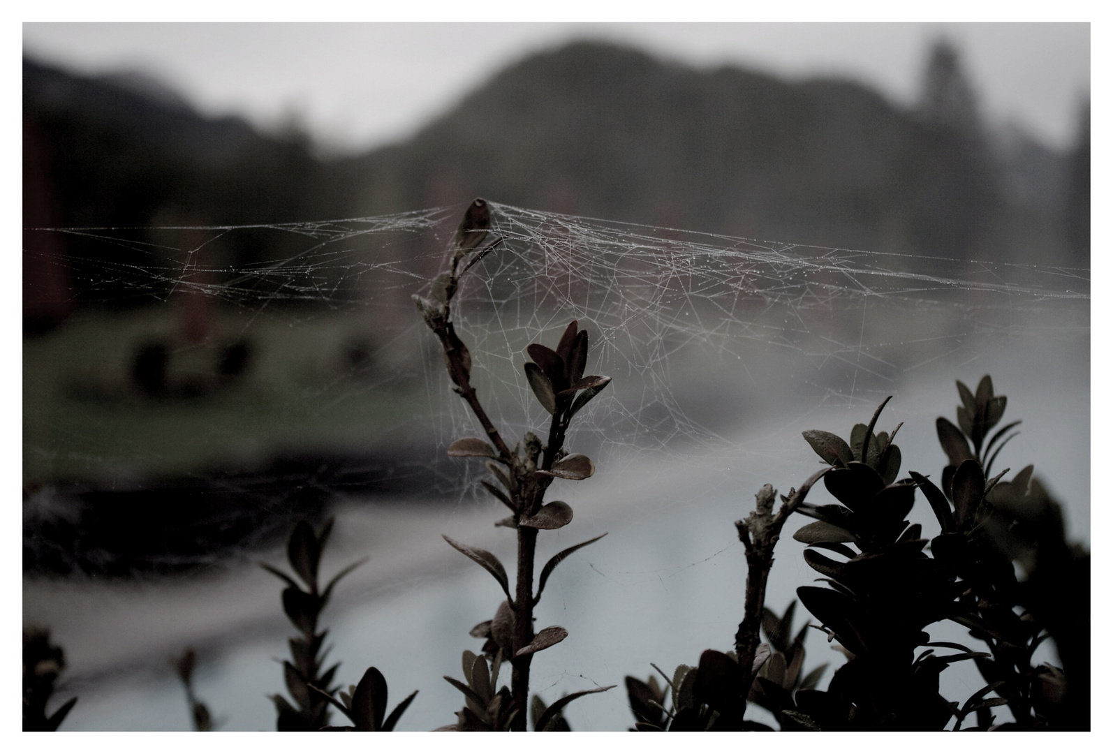
<instances>
[{"instance_id":1,"label":"pale grey overcast sky above the dark mountain ridge and treetops","mask_svg":"<svg viewBox=\"0 0 1113 754\"><path fill-rule=\"evenodd\" d=\"M405 138L504 66L575 38L696 66L843 75L909 103L930 42L956 43L991 122L1058 148L1090 90L1084 23L26 23L23 49L85 72L140 70L210 115L297 113L334 149Z\"/></svg>"}]
</instances>

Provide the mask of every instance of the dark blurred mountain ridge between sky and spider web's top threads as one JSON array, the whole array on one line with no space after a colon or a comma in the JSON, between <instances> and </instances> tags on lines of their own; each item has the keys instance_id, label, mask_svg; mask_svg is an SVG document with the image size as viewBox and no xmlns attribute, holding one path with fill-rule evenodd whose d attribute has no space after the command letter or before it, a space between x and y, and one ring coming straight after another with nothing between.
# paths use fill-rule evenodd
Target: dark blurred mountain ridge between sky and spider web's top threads
<instances>
[{"instance_id":1,"label":"dark blurred mountain ridge between sky and spider web's top threads","mask_svg":"<svg viewBox=\"0 0 1113 754\"><path fill-rule=\"evenodd\" d=\"M156 225L365 217L483 196L920 255L942 268L969 257L1058 264L1066 248L1067 158L1023 135L972 136L962 119L898 107L849 80L702 70L611 43L531 54L412 138L357 157L322 158L296 129L206 118L141 75L80 77L27 58L23 115L26 227L142 237ZM294 251L274 235L235 236L221 252L233 265ZM73 265L93 265L72 276L75 300L136 300L127 280L92 294L88 281L106 261L141 266L146 251L69 242ZM24 281L33 304L27 290Z\"/></svg>"}]
</instances>

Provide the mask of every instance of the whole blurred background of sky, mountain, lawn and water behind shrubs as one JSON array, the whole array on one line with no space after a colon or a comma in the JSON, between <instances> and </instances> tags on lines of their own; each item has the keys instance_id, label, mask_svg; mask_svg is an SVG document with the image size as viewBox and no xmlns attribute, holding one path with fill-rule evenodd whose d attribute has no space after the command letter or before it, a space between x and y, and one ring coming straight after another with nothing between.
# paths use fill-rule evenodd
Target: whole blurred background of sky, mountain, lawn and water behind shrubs
<instances>
[{"instance_id":1,"label":"whole blurred background of sky, mountain, lawn and water behind shrubs","mask_svg":"<svg viewBox=\"0 0 1113 754\"><path fill-rule=\"evenodd\" d=\"M1065 23L24 24L23 614L66 647L65 727L187 727L186 645L226 728L273 727L255 560L332 514L326 567L372 556L339 677L453 722L498 591L439 535L509 537L444 457L474 427L410 297L476 196L508 241L459 317L499 421L538 426L522 353L572 318L614 377L573 437L600 478L559 493L568 536L612 534L550 587L549 696L725 648L731 522L886 395L937 473L954 380L992 374L1005 465L1089 543L1089 61ZM572 727L632 724L620 691Z\"/></svg>"}]
</instances>

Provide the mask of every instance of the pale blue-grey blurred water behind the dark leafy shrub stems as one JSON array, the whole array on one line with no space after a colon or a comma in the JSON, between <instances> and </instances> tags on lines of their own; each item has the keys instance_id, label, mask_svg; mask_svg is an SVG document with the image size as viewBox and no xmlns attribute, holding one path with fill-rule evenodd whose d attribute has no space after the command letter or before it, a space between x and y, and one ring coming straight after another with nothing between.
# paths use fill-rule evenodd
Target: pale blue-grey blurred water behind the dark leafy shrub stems
<instances>
[{"instance_id":1,"label":"pale blue-grey blurred water behind the dark leafy shrub stems","mask_svg":"<svg viewBox=\"0 0 1113 754\"><path fill-rule=\"evenodd\" d=\"M1024 421L1023 434L998 465L1015 472L1035 463L1036 474L1064 504L1070 538L1089 546L1089 347L1052 344L1041 356L1007 350L919 369L914 381L894 389L880 426L904 421L903 470L936 475L945 458L934 419L954 410L954 378L973 383L991 371L998 391L1008 396L1006 418ZM650 663L671 669L693 664L705 648L728 648L741 618L745 583L732 522L750 509L762 484L786 492L816 468L801 430L846 434L869 413L861 405L801 405L777 423L743 425L716 449L673 447L671 455L656 458L613 452L592 479L558 482L552 496L568 500L575 519L541 538L542 555L610 534L562 564L546 587L538 624L562 625L570 635L535 659L534 689L552 701L618 684L573 703L567 716L573 730L624 730L632 721L624 675L646 677ZM441 676L459 676L460 653L479 648L467 631L490 618L500 602L495 583L439 535L489 547L508 562L512 537L491 526L500 515L486 503L470 500L445 506L352 502L337 512L325 573L365 554L371 562L338 588L325 613L331 658L343 662L337 678L344 684L357 681L368 665L382 669L392 706L420 689L400 730L454 722L462 697ZM913 518L926 532L936 526L922 498ZM788 537L778 547L769 588L777 612L815 576L801 550ZM276 550L270 560L280 557ZM250 563L219 578L116 592L24 582L24 621L49 623L67 649L70 687L81 696L68 730L187 728L185 695L164 662L186 643L200 649L197 693L224 727L273 730L266 695L283 691L276 658L287 654L285 637L293 633L278 609L279 592L277 581ZM933 638L951 641L965 634L939 625L932 632ZM819 632L812 632L807 649L806 667L839 662ZM112 667L127 672L107 675ZM829 678L830 669L820 687ZM966 698L982 685L973 667L961 667L944 675L943 693Z\"/></svg>"}]
</instances>

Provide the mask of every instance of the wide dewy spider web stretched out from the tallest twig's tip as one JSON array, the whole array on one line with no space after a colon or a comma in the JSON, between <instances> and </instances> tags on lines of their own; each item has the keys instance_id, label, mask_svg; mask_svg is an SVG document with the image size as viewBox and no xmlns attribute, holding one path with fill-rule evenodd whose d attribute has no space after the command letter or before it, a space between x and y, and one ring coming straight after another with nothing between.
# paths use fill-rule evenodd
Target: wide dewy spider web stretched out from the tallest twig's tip
<instances>
[{"instance_id":1,"label":"wide dewy spider web stretched out from the tallest twig's tip","mask_svg":"<svg viewBox=\"0 0 1113 754\"><path fill-rule=\"evenodd\" d=\"M864 421L881 398L920 377L973 384L981 373L966 365L992 373L1003 351L1038 361L1050 348L1075 377L1089 367L1085 269L764 241L496 204L492 214L491 238L504 241L464 277L454 318L475 361L473 381L510 438L544 427L522 370L525 345L553 345L572 319L591 338L589 371L613 378L570 435L570 446L601 460L739 452L739 428L786 410L853 407ZM435 339L411 301L429 295L459 215L439 208L324 222L53 231L69 241L68 260L24 254L40 266L68 264L79 278L93 307L69 329L116 328L104 353L55 365L65 389L135 406L129 358L151 334L167 340L168 384L193 375L204 388L213 369L206 349L246 339L259 345L256 374L247 370L242 390L266 394L267 410L287 420L200 427L196 445L207 455L187 462L158 443L67 427L65 415L48 413L36 419L45 431L24 431L24 476L159 473L236 458L245 447L432 443L430 489L471 488L443 448L481 433L452 396ZM243 247L256 252L237 262ZM105 309L121 301L156 306ZM1001 377L998 386L1008 393ZM396 405L378 426L353 420L382 415L368 406L384 395L405 408ZM946 404L930 410L949 413Z\"/></svg>"}]
</instances>

